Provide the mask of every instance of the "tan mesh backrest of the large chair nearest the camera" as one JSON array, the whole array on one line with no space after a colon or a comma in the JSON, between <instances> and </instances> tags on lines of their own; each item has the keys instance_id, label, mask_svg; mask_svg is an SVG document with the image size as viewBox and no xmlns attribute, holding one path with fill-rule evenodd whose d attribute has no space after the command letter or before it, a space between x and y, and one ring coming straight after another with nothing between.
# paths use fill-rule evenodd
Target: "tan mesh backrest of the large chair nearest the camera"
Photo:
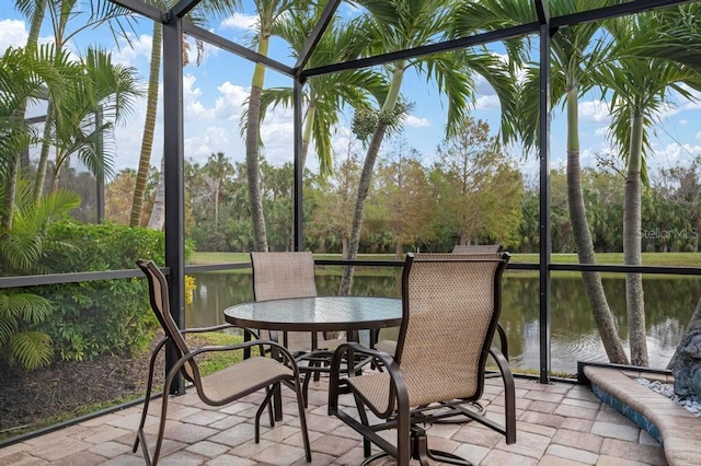
<instances>
[{"instance_id":1,"label":"tan mesh backrest of the large chair nearest the camera","mask_svg":"<svg viewBox=\"0 0 701 466\"><path fill-rule=\"evenodd\" d=\"M508 253L407 254L395 359L410 405L478 399Z\"/></svg>"}]
</instances>

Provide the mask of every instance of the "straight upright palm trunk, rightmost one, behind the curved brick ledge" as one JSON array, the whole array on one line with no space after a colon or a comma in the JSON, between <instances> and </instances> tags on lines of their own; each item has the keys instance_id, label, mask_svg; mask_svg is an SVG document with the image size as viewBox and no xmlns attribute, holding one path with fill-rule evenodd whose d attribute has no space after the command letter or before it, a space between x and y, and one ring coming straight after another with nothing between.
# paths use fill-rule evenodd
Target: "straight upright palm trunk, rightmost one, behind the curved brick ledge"
<instances>
[{"instance_id":1,"label":"straight upright palm trunk, rightmost one, behind the curved brick ledge","mask_svg":"<svg viewBox=\"0 0 701 466\"><path fill-rule=\"evenodd\" d=\"M623 264L640 266L641 254L641 164L643 148L643 114L635 107L631 123L631 148L625 175L623 200ZM643 276L625 273L625 306L631 347L631 364L647 366L647 339L645 335L645 301Z\"/></svg>"}]
</instances>

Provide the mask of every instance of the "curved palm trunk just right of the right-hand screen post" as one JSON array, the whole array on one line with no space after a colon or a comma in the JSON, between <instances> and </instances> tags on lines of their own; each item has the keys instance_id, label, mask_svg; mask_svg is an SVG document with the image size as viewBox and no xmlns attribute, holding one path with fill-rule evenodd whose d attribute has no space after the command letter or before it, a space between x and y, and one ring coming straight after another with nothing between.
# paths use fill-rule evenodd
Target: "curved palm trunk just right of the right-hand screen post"
<instances>
[{"instance_id":1,"label":"curved palm trunk just right of the right-hand screen post","mask_svg":"<svg viewBox=\"0 0 701 466\"><path fill-rule=\"evenodd\" d=\"M591 242L582 191L577 91L577 85L571 85L567 90L567 206L579 263L596 264L594 243ZM604 293L601 277L598 272L583 271L582 281L609 361L627 364L628 357L623 350L623 343L616 329L616 322Z\"/></svg>"}]
</instances>

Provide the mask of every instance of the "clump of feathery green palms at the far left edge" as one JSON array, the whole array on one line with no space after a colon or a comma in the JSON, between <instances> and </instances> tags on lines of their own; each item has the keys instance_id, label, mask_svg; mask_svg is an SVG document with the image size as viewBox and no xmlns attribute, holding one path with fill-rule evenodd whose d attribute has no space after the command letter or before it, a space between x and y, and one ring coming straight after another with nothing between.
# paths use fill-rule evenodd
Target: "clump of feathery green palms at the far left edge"
<instances>
[{"instance_id":1,"label":"clump of feathery green palms at the far left edge","mask_svg":"<svg viewBox=\"0 0 701 466\"><path fill-rule=\"evenodd\" d=\"M31 26L26 46L0 57L0 275L37 271L50 241L47 223L80 205L78 195L59 187L61 172L77 158L97 178L110 175L113 154L105 137L141 93L136 70L113 63L104 49L68 47L80 32L124 18L124 9L96 2L77 25L76 1L18 1L16 7ZM39 45L46 15L53 43ZM25 117L30 106L43 104L42 125ZM30 147L41 148L34 166L23 156ZM0 348L9 348L3 360L28 369L50 361L48 336L33 330L50 308L32 293L0 293Z\"/></svg>"}]
</instances>

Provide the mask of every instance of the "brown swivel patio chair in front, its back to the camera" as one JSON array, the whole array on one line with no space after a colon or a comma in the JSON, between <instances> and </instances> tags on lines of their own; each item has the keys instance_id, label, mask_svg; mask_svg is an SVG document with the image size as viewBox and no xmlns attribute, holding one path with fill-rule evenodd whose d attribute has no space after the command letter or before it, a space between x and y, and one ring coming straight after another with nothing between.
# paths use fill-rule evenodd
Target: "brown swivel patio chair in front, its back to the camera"
<instances>
[{"instance_id":1,"label":"brown swivel patio chair in front, its back to the camera","mask_svg":"<svg viewBox=\"0 0 701 466\"><path fill-rule=\"evenodd\" d=\"M336 349L329 380L329 413L363 435L364 464L389 455L400 466L409 465L411 458L422 465L429 464L428 459L469 465L451 453L429 450L426 431L420 427L455 417L456 410L502 433L507 444L516 442L514 377L506 359L491 346L508 259L507 253L409 254L394 358L355 342ZM349 350L376 358L384 371L341 377L341 361ZM464 406L482 397L489 354L504 380L504 423ZM340 405L342 394L354 396L359 416ZM395 444L380 435L387 429L397 429ZM371 443L382 452L370 456Z\"/></svg>"}]
</instances>

